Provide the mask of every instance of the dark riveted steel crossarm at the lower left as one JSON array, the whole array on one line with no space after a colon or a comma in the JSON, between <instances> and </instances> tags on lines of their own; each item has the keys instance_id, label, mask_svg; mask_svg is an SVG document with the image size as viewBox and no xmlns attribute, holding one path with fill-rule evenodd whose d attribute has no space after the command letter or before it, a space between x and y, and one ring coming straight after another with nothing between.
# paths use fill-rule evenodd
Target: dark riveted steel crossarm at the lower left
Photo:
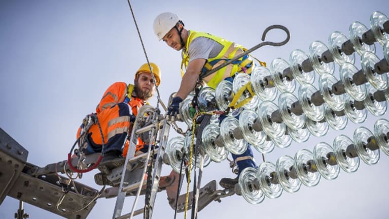
<instances>
[{"instance_id":1,"label":"dark riveted steel crossarm at the lower left","mask_svg":"<svg viewBox=\"0 0 389 219\"><path fill-rule=\"evenodd\" d=\"M73 181L72 186L63 187L61 182L68 180L53 173L55 165L47 170L27 163L28 151L0 128L0 204L5 196L19 200L18 218L27 218L22 204L42 208L65 218L87 218L93 209L98 191ZM58 169L64 168L66 162ZM66 198L64 198L66 196Z\"/></svg>"}]
</instances>

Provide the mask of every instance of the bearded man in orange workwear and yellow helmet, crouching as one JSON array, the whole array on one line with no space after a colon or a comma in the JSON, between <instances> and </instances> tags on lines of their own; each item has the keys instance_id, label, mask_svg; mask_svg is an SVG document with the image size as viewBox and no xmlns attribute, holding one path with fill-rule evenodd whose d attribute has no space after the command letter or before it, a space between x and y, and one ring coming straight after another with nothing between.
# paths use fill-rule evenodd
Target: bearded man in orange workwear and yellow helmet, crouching
<instances>
[{"instance_id":1,"label":"bearded man in orange workwear and yellow helmet, crouching","mask_svg":"<svg viewBox=\"0 0 389 219\"><path fill-rule=\"evenodd\" d=\"M103 154L100 166L127 154L129 141L126 136L131 135L138 109L154 96L156 86L161 82L159 67L153 62L150 62L150 66L151 69L146 63L139 67L135 73L134 84L115 82L104 92L93 114L98 119L100 127L94 123L79 140L80 148L83 148L85 154L95 152ZM151 73L154 74L155 81ZM83 128L83 125L79 128L77 138L80 137ZM104 148L101 151L103 144ZM138 138L135 153L147 152L147 147L148 144ZM96 183L102 182L97 180Z\"/></svg>"}]
</instances>

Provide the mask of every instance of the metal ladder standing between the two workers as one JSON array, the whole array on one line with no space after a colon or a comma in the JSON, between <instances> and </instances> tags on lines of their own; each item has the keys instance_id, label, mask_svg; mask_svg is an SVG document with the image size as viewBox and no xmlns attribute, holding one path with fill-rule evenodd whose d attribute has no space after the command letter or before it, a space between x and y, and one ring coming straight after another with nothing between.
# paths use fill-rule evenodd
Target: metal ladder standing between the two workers
<instances>
[{"instance_id":1,"label":"metal ladder standing between the two workers","mask_svg":"<svg viewBox=\"0 0 389 219\"><path fill-rule=\"evenodd\" d=\"M148 126L145 126L145 124L142 122L145 118L144 115L149 114L151 116L151 122ZM144 127L142 127L144 126ZM125 159L124 167L121 174L121 181L120 186L118 190L118 196L116 199L113 219L124 219L124 218L132 218L134 215L144 213L144 218L151 218L153 209L154 209L154 203L155 198L158 193L158 185L160 181L160 174L162 170L162 158L163 154L165 152L168 135L170 130L170 123L166 119L161 119L161 116L159 114L159 110L157 108L153 108L150 105L145 105L139 108L139 111L136 116L136 120L133 125L131 138L129 142L129 147L127 151L127 156ZM156 140L157 134L159 131L159 149L156 153L156 159L154 159L154 164L149 164L151 156L154 156L154 154L151 154L151 145L152 140ZM149 143L149 150L147 153L147 158L144 163L144 168L141 171L140 168L133 169L131 167L130 160L133 161L137 159L137 157L134 157L135 153L135 147L137 143L138 136L142 133L150 132L150 143ZM143 156L139 156L140 159ZM144 158L144 157L143 157ZM145 173L147 172L148 165L154 165L154 168L152 169L152 181L151 184L147 185L147 190L150 192L150 196L146 197L149 199L148 205L146 205L144 208L140 208L138 210L135 210L138 198L140 196L140 192L142 191L142 187L145 185ZM137 181L140 178L140 181ZM147 181L147 180L146 180ZM151 185L151 187L150 187ZM126 193L128 191L133 191L134 189L137 189L137 194L132 206L132 210L129 213L122 214L123 205L124 205L124 199L126 197ZM146 194L148 194L148 191Z\"/></svg>"}]
</instances>

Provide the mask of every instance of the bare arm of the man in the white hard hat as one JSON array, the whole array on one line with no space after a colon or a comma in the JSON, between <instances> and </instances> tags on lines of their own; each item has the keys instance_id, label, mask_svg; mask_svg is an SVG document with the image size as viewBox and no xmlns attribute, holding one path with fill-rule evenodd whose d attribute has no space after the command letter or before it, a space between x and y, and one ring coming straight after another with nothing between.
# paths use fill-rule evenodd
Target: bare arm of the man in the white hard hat
<instances>
[{"instance_id":1,"label":"bare arm of the man in the white hard hat","mask_svg":"<svg viewBox=\"0 0 389 219\"><path fill-rule=\"evenodd\" d=\"M176 97L185 99L189 93L195 88L201 69L205 64L205 59L198 58L189 62L184 77L181 81L180 89L177 91Z\"/></svg>"}]
</instances>

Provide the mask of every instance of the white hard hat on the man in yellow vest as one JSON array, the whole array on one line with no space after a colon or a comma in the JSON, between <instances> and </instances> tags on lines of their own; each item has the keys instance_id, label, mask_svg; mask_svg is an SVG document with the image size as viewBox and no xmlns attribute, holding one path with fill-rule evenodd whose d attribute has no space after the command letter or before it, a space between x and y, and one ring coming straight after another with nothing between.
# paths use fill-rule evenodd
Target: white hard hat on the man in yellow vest
<instances>
[{"instance_id":1,"label":"white hard hat on the man in yellow vest","mask_svg":"<svg viewBox=\"0 0 389 219\"><path fill-rule=\"evenodd\" d=\"M158 15L154 20L154 34L157 35L158 40L162 38L175 26L181 19L174 13L165 12Z\"/></svg>"}]
</instances>

